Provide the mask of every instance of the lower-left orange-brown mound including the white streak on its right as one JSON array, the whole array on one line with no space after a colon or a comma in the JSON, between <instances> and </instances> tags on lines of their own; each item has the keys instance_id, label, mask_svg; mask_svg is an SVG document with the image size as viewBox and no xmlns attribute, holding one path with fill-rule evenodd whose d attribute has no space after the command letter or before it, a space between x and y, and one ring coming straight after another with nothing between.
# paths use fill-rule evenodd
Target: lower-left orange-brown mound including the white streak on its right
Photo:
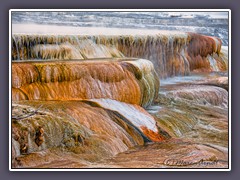
<instances>
[{"instance_id":1,"label":"lower-left orange-brown mound including the white streak on its right","mask_svg":"<svg viewBox=\"0 0 240 180\"><path fill-rule=\"evenodd\" d=\"M21 166L16 160L20 155L47 149L62 147L96 161L167 138L143 108L110 99L19 101L12 111L15 166ZM26 151L21 150L24 146Z\"/></svg>"}]
</instances>

